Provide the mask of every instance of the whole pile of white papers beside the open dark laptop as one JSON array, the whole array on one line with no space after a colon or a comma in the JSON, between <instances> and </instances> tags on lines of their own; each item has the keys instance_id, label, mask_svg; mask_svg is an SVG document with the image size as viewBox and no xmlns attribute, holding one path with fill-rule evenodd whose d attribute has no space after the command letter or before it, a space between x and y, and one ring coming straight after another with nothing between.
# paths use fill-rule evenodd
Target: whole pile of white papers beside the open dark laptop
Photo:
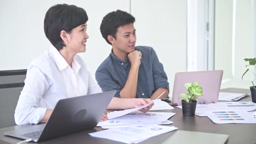
<instances>
[{"instance_id":1,"label":"whole pile of white papers beside the open dark laptop","mask_svg":"<svg viewBox=\"0 0 256 144\"><path fill-rule=\"evenodd\" d=\"M164 94L164 92L162 93ZM162 95L161 94L161 95ZM159 97L161 96L159 95ZM158 97L158 98L159 98ZM156 99L158 99L156 98ZM153 100L155 103L156 99ZM152 101L152 103L153 103ZM167 121L168 118L175 115L172 112L147 112L143 113L137 110L141 110L147 105L123 110L113 111L108 113L108 120L99 122L98 127L102 127L102 130L96 133L90 133L91 136L101 137L104 139L120 141L125 143L138 143L149 139L149 137L167 133L172 130L176 130L176 127L166 127L164 125L157 124L171 124L171 121ZM156 104L160 106L159 104ZM161 105L162 106L162 105ZM173 109L170 105L164 105L158 107L158 109ZM153 125L152 125L153 124Z\"/></svg>"}]
</instances>

